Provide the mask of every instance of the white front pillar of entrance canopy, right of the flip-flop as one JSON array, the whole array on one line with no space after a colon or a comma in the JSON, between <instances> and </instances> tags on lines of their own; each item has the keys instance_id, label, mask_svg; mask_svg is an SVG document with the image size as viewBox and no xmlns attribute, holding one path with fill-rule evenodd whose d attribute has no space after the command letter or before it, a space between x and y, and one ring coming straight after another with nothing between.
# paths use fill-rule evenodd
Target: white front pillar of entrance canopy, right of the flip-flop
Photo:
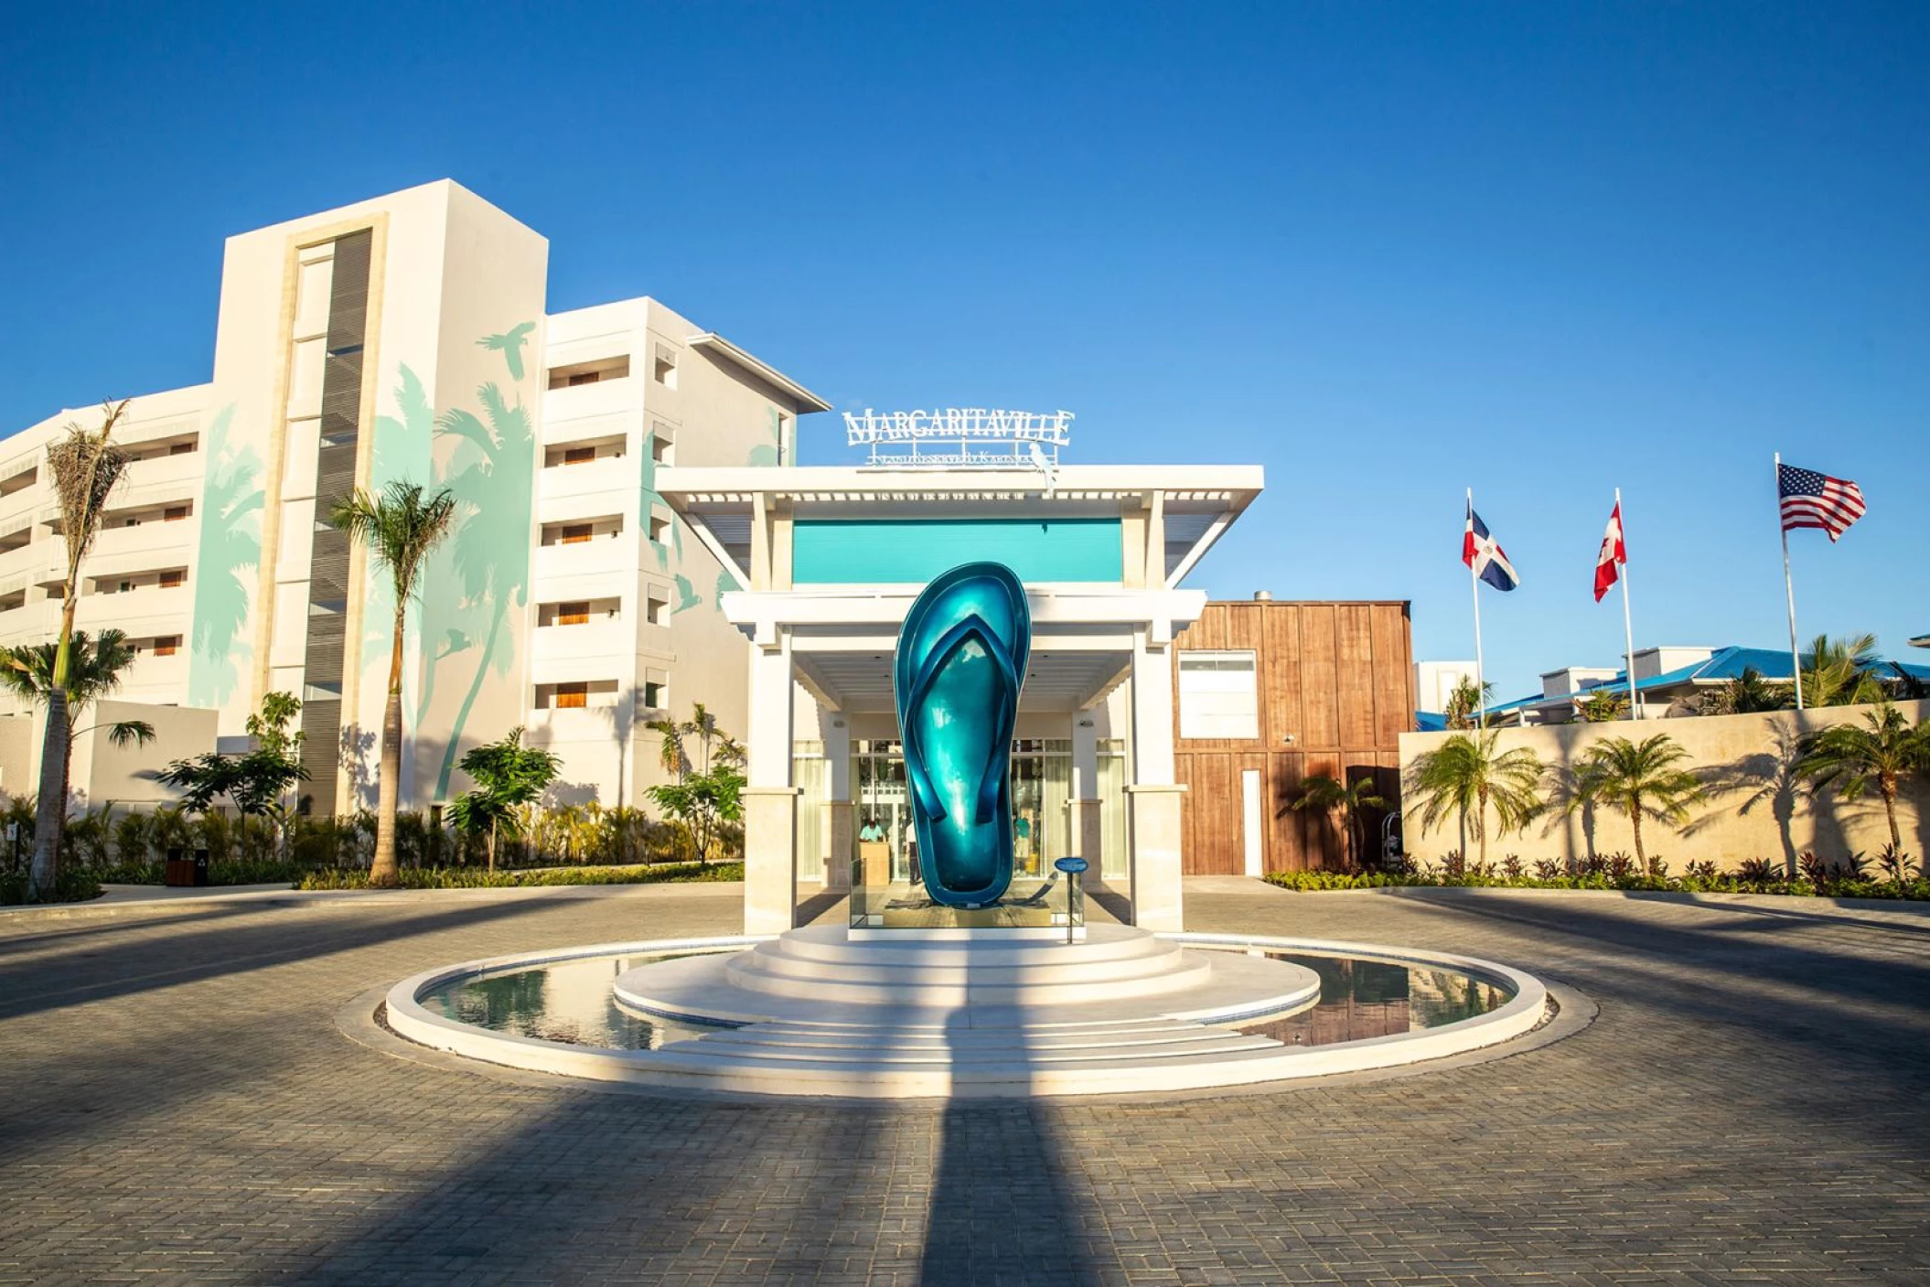
<instances>
[{"instance_id":1,"label":"white front pillar of entrance canopy, right of the flip-flop","mask_svg":"<svg viewBox=\"0 0 1930 1287\"><path fill-rule=\"evenodd\" d=\"M1133 924L1181 930L1181 826L1173 783L1172 625L1154 621L1133 635L1133 783L1125 789L1131 822Z\"/></svg>"}]
</instances>

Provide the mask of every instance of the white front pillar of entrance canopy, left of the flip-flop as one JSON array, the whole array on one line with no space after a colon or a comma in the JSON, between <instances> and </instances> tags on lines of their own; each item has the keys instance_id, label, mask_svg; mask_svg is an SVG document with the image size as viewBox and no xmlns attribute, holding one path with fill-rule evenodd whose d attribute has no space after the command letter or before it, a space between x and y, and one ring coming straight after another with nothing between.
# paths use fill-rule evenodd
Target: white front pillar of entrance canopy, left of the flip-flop
<instances>
[{"instance_id":1,"label":"white front pillar of entrance canopy, left of the flip-flop","mask_svg":"<svg viewBox=\"0 0 1930 1287\"><path fill-rule=\"evenodd\" d=\"M743 791L743 932L797 920L797 787L791 785L791 633L758 627L751 646L751 727Z\"/></svg>"}]
</instances>

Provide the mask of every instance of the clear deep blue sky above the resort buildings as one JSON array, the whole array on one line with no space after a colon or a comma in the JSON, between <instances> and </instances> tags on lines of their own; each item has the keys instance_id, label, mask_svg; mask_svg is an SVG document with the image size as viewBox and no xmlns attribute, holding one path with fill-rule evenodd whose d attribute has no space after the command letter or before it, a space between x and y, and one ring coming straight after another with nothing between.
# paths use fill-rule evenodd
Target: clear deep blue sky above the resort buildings
<instances>
[{"instance_id":1,"label":"clear deep blue sky above the resort buildings","mask_svg":"<svg viewBox=\"0 0 1930 1287\"><path fill-rule=\"evenodd\" d=\"M448 176L552 309L1264 463L1195 583L1411 598L1420 658L1473 652L1473 484L1505 695L1619 660L1617 484L1640 646L1783 643L1774 450L1870 502L1793 538L1805 637L1930 631L1920 0L158 8L10 17L4 432L205 380L222 237Z\"/></svg>"}]
</instances>

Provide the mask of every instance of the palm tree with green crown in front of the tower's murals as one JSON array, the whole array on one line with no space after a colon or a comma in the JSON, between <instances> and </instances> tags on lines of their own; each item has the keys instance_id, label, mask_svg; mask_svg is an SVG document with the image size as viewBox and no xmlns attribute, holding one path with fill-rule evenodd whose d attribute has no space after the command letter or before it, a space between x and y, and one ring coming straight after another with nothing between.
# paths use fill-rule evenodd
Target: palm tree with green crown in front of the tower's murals
<instances>
[{"instance_id":1,"label":"palm tree with green crown in front of the tower's murals","mask_svg":"<svg viewBox=\"0 0 1930 1287\"><path fill-rule=\"evenodd\" d=\"M398 480L382 488L382 496L355 488L338 502L330 521L369 546L369 556L388 567L396 590L396 643L388 656L388 704L382 708L382 776L376 781L374 859L369 863L369 884L400 884L396 868L396 801L401 789L401 633L407 625L409 600L430 550L442 544L455 521L455 498L448 490L425 498L415 482Z\"/></svg>"}]
</instances>

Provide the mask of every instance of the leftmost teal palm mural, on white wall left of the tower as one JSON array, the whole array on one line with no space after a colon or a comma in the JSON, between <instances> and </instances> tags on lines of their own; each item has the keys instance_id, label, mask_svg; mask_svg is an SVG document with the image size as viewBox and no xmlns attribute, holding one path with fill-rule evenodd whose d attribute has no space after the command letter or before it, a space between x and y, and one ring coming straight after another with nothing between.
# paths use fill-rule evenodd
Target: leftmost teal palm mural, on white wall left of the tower
<instances>
[{"instance_id":1,"label":"leftmost teal palm mural, on white wall left of the tower","mask_svg":"<svg viewBox=\"0 0 1930 1287\"><path fill-rule=\"evenodd\" d=\"M201 546L195 560L195 623L189 637L187 704L222 706L241 679L241 662L255 656L243 639L249 617L249 579L261 567L261 511L266 502L261 457L230 440L235 409L208 424L203 442L207 473L201 484Z\"/></svg>"}]
</instances>

